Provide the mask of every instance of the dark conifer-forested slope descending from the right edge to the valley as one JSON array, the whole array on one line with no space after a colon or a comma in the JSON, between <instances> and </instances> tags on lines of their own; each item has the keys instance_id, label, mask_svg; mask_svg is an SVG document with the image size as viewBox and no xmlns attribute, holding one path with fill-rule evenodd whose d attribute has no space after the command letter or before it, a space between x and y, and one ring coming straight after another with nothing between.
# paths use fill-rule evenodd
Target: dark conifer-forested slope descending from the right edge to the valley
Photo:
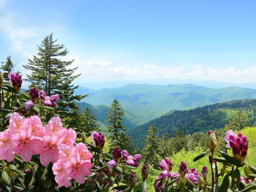
<instances>
[{"instance_id":1,"label":"dark conifer-forested slope descending from the right edge to the valley","mask_svg":"<svg viewBox=\"0 0 256 192\"><path fill-rule=\"evenodd\" d=\"M143 138L145 138L151 125L158 128L159 136L167 133L168 137L173 137L179 129L186 135L199 131L207 132L208 130L223 128L237 110L243 111L250 123L253 124L256 120L256 99L216 103L190 110L175 110L131 129L129 132L134 139L134 145L143 147Z\"/></svg>"}]
</instances>

